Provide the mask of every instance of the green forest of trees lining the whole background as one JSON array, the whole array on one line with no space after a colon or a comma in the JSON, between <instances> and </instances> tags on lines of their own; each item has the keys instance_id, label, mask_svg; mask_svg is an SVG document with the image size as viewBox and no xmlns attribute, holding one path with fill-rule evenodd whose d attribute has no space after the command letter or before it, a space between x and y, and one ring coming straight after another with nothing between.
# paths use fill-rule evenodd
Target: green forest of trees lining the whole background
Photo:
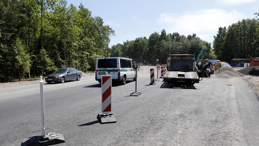
<instances>
[{"instance_id":1,"label":"green forest of trees lining the whole background","mask_svg":"<svg viewBox=\"0 0 259 146\"><path fill-rule=\"evenodd\" d=\"M61 67L94 71L97 57L129 56L137 63L165 64L169 54L207 59L259 56L259 24L246 19L219 27L213 44L196 34L167 33L137 37L109 47L115 31L99 16L66 0L0 0L0 81L35 78ZM257 13L255 13L258 15ZM212 48L213 46L213 48Z\"/></svg>"}]
</instances>

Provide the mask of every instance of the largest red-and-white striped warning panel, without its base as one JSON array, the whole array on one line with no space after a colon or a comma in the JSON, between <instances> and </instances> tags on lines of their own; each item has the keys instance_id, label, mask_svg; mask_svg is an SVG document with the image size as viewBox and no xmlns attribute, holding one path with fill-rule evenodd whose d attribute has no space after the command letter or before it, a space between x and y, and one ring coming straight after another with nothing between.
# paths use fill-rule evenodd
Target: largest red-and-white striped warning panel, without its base
<instances>
[{"instance_id":1,"label":"largest red-and-white striped warning panel, without its base","mask_svg":"<svg viewBox=\"0 0 259 146\"><path fill-rule=\"evenodd\" d=\"M101 112L111 113L111 75L101 76Z\"/></svg>"}]
</instances>

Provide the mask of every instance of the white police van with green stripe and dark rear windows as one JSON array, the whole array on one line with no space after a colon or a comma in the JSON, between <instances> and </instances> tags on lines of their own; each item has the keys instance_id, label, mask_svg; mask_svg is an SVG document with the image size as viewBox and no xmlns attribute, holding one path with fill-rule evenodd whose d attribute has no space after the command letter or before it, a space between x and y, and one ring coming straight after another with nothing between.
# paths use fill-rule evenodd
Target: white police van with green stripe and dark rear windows
<instances>
[{"instance_id":1,"label":"white police van with green stripe and dark rear windows","mask_svg":"<svg viewBox=\"0 0 259 146\"><path fill-rule=\"evenodd\" d=\"M97 58L95 67L95 80L101 83L101 76L108 72L112 75L112 81L119 81L125 85L126 80L135 81L135 63L128 57L106 57Z\"/></svg>"}]
</instances>

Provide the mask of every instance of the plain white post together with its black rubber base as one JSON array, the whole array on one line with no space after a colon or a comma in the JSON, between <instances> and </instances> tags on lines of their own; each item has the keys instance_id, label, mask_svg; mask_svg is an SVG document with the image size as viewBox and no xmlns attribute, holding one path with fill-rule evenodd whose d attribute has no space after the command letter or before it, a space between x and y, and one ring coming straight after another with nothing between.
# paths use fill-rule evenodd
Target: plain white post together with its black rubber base
<instances>
[{"instance_id":1,"label":"plain white post together with its black rubber base","mask_svg":"<svg viewBox=\"0 0 259 146\"><path fill-rule=\"evenodd\" d=\"M46 134L42 76L40 76L40 104L41 104L41 134L42 135L35 135L24 139L21 142L21 146L53 145L53 144L60 144L65 142L63 135L60 133L51 132Z\"/></svg>"}]
</instances>

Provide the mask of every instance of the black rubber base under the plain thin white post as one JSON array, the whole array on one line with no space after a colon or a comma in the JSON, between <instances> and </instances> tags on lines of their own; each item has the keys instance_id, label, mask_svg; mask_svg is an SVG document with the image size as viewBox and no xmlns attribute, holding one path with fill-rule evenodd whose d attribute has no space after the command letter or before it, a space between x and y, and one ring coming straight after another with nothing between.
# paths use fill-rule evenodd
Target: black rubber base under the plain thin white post
<instances>
[{"instance_id":1,"label":"black rubber base under the plain thin white post","mask_svg":"<svg viewBox=\"0 0 259 146\"><path fill-rule=\"evenodd\" d=\"M21 142L21 146L45 146L45 145L53 145L64 143L65 139L60 133L48 133L45 137L42 135L35 135L29 138L24 139Z\"/></svg>"}]
</instances>

